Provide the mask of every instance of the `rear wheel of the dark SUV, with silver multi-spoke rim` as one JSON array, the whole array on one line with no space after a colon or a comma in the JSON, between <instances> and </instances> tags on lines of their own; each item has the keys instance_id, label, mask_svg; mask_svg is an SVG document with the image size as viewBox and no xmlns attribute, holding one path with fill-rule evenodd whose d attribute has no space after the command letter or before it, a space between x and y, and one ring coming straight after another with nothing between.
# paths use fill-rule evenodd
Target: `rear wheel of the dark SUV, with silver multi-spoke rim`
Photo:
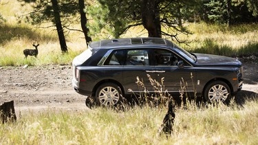
<instances>
[{"instance_id":1,"label":"rear wheel of the dark SUV, with silver multi-spoke rim","mask_svg":"<svg viewBox=\"0 0 258 145\"><path fill-rule=\"evenodd\" d=\"M116 107L122 100L122 91L114 83L107 82L96 90L96 101L100 106Z\"/></svg>"}]
</instances>

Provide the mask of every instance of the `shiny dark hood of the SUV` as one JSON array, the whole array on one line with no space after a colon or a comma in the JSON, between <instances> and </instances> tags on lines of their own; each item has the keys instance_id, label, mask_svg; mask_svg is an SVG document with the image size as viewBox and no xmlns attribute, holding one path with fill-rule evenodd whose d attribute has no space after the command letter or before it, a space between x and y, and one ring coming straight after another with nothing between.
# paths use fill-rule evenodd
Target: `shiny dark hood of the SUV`
<instances>
[{"instance_id":1,"label":"shiny dark hood of the SUV","mask_svg":"<svg viewBox=\"0 0 258 145\"><path fill-rule=\"evenodd\" d=\"M241 62L236 58L217 56L211 54L195 54L197 57L196 65L202 66L241 66Z\"/></svg>"}]
</instances>

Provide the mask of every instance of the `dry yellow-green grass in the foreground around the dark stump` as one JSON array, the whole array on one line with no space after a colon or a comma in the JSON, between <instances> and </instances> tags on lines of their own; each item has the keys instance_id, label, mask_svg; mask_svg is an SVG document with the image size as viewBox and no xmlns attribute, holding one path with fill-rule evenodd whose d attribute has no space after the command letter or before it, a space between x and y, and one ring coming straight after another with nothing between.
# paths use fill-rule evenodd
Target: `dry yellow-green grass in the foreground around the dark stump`
<instances>
[{"instance_id":1,"label":"dry yellow-green grass in the foreground around the dark stump","mask_svg":"<svg viewBox=\"0 0 258 145\"><path fill-rule=\"evenodd\" d=\"M165 107L134 107L125 112L30 112L16 123L0 124L0 144L257 144L258 102L244 108L208 107L175 111L173 135L158 129Z\"/></svg>"}]
</instances>

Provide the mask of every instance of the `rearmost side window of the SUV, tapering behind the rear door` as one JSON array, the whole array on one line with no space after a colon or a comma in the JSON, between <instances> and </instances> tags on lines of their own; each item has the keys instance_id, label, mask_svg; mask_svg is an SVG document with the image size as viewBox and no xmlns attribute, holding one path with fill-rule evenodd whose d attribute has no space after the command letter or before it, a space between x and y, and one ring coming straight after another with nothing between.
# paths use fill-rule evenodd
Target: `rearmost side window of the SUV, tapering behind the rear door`
<instances>
[{"instance_id":1,"label":"rearmost side window of the SUV, tapering behind the rear door","mask_svg":"<svg viewBox=\"0 0 258 145\"><path fill-rule=\"evenodd\" d=\"M107 58L104 65L124 65L124 56L125 55L123 50L114 50L114 52L112 52Z\"/></svg>"}]
</instances>

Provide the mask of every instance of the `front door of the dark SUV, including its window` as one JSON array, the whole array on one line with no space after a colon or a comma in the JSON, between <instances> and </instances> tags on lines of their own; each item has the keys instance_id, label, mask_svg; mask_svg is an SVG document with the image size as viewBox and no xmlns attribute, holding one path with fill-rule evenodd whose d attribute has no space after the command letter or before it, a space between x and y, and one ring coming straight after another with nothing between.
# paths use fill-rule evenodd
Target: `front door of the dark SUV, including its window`
<instances>
[{"instance_id":1,"label":"front door of the dark SUV, including its window","mask_svg":"<svg viewBox=\"0 0 258 145\"><path fill-rule=\"evenodd\" d=\"M164 79L163 87L169 93L193 93L194 68L169 49L152 49L152 60L158 81ZM178 67L178 62L184 67Z\"/></svg>"}]
</instances>

